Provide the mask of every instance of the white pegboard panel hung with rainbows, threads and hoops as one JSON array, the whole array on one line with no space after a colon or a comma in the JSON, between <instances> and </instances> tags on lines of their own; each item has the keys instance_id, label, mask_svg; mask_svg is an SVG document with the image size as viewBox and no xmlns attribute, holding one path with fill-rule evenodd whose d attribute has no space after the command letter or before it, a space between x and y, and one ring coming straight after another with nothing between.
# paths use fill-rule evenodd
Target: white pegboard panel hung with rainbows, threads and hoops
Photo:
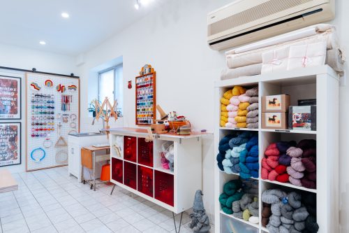
<instances>
[{"instance_id":1,"label":"white pegboard panel hung with rainbows, threads and hoops","mask_svg":"<svg viewBox=\"0 0 349 233\"><path fill-rule=\"evenodd\" d=\"M78 78L26 73L27 171L68 164L68 134L80 131Z\"/></svg>"}]
</instances>

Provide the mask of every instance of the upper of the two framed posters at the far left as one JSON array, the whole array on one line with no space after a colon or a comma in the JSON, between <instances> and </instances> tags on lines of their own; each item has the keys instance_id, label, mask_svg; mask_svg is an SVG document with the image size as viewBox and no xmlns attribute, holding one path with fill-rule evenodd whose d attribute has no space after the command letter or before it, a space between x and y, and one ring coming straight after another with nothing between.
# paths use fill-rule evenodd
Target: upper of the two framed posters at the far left
<instances>
[{"instance_id":1,"label":"upper of the two framed posters at the far left","mask_svg":"<svg viewBox=\"0 0 349 233\"><path fill-rule=\"evenodd\" d=\"M0 76L0 119L19 120L21 118L21 79Z\"/></svg>"}]
</instances>

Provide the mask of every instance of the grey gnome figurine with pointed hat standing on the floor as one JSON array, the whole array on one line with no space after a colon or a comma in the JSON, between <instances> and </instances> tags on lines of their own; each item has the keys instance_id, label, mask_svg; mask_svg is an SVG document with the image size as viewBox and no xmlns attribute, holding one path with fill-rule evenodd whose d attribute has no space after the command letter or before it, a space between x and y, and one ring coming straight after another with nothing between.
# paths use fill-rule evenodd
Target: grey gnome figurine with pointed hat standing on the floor
<instances>
[{"instance_id":1,"label":"grey gnome figurine with pointed hat standing on the floor","mask_svg":"<svg viewBox=\"0 0 349 233\"><path fill-rule=\"evenodd\" d=\"M209 216L205 213L204 203L202 202L202 191L195 192L193 213L191 213L191 223L188 227L193 229L195 233L207 233L211 229L209 225Z\"/></svg>"}]
</instances>

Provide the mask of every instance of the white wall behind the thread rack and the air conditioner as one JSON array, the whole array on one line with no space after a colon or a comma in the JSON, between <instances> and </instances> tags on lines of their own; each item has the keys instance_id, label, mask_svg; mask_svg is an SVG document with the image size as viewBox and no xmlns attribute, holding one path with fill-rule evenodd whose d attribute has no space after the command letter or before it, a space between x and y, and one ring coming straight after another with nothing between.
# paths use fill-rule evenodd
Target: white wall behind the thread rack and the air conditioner
<instances>
[{"instance_id":1,"label":"white wall behind the thread rack and the air conditioner","mask_svg":"<svg viewBox=\"0 0 349 233\"><path fill-rule=\"evenodd\" d=\"M82 88L88 90L89 71L115 57L124 56L125 110L124 125L133 127L135 122L134 89L126 83L133 80L140 67L149 63L157 72L157 102L165 111L184 114L194 127L214 129L213 83L225 66L224 55L207 47L207 13L231 1L172 0L161 9L144 17L110 40L86 53L86 63L80 68ZM348 49L349 20L348 1L336 1L339 38ZM348 66L346 66L348 73ZM349 73L348 73L349 74ZM349 85L349 83L348 83ZM349 157L346 156L349 134L349 87L340 88L340 192L341 232L349 232ZM82 96L82 106L87 106L87 96ZM85 115L82 112L82 115ZM203 191L207 211L214 213L214 166L216 166L213 142L205 139L203 146ZM329 155L330 156L330 155Z\"/></svg>"}]
</instances>

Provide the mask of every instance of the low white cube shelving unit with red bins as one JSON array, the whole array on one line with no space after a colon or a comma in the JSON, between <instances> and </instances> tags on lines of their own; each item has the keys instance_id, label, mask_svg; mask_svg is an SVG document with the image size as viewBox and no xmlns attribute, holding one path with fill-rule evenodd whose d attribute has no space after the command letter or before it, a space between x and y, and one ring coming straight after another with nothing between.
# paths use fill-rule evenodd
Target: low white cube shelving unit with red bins
<instances>
[{"instance_id":1,"label":"low white cube shelving unit with red bins","mask_svg":"<svg viewBox=\"0 0 349 233\"><path fill-rule=\"evenodd\" d=\"M147 145L144 138L148 134L145 132L141 128L110 129L111 182L173 213L191 209L196 190L202 190L201 135L158 134ZM119 137L122 139L118 139ZM133 148L130 146L132 143L125 142L127 140L135 141ZM122 147L121 157L113 148L115 143ZM174 171L161 167L160 152L163 143L172 143L174 146ZM144 148L144 145L149 146L149 153L142 153L140 146ZM133 158L126 157L127 153L133 154ZM142 157L149 157L149 160L146 159L144 163ZM149 185L144 185L142 169L147 172L149 178L145 181Z\"/></svg>"}]
</instances>

